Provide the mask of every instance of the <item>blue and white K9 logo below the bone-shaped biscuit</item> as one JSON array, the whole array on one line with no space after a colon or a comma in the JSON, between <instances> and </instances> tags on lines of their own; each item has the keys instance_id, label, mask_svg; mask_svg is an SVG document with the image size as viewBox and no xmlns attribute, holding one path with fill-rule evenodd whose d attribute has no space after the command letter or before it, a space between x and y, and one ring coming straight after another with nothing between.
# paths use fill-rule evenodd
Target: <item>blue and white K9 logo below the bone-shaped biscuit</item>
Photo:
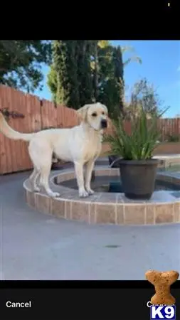
<instances>
[{"instance_id":1,"label":"blue and white K9 logo below the bone-shaped biscuit","mask_svg":"<svg viewBox=\"0 0 180 320\"><path fill-rule=\"evenodd\" d=\"M150 319L171 319L176 320L176 306L150 306Z\"/></svg>"}]
</instances>

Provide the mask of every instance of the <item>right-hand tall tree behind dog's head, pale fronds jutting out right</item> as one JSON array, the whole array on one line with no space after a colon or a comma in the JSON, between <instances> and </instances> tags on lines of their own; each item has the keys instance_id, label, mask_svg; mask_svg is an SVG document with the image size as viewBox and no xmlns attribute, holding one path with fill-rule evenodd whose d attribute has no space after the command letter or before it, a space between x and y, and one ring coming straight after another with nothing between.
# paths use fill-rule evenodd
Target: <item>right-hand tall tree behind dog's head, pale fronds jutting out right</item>
<instances>
[{"instance_id":1,"label":"right-hand tall tree behind dog's head, pale fronds jutting out right","mask_svg":"<svg viewBox=\"0 0 180 320\"><path fill-rule=\"evenodd\" d=\"M123 54L133 51L132 47L113 47L110 41L96 42L95 58L92 59L92 71L95 100L107 105L110 117L117 117L124 109L125 81L124 68L132 61L142 63L136 55L123 61Z\"/></svg>"}]
</instances>

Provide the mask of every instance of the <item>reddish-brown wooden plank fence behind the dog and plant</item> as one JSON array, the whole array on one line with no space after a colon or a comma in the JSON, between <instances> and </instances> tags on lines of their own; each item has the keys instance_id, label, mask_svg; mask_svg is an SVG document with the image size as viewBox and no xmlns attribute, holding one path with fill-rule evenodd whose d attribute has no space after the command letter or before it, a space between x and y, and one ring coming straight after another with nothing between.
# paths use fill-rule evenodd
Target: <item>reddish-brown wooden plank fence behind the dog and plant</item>
<instances>
[{"instance_id":1,"label":"reddish-brown wooden plank fence behind the dog and plant","mask_svg":"<svg viewBox=\"0 0 180 320\"><path fill-rule=\"evenodd\" d=\"M0 110L9 114L9 125L20 132L37 132L46 127L73 127L78 124L75 110L53 102L40 100L11 87L0 85ZM128 132L130 123L126 123ZM180 119L161 119L162 137L180 133ZM14 141L0 133L0 174L32 168L28 144Z\"/></svg>"}]
</instances>

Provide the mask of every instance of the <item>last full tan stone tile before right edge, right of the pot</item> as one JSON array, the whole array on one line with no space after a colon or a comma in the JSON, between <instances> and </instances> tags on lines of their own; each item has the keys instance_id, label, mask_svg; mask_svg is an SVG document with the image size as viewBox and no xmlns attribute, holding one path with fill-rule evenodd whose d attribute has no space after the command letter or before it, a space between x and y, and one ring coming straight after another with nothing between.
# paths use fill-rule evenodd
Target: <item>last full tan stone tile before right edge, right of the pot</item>
<instances>
[{"instance_id":1,"label":"last full tan stone tile before right edge, right of the pot","mask_svg":"<svg viewBox=\"0 0 180 320\"><path fill-rule=\"evenodd\" d=\"M155 223L171 223L173 216L173 204L155 206Z\"/></svg>"}]
</instances>

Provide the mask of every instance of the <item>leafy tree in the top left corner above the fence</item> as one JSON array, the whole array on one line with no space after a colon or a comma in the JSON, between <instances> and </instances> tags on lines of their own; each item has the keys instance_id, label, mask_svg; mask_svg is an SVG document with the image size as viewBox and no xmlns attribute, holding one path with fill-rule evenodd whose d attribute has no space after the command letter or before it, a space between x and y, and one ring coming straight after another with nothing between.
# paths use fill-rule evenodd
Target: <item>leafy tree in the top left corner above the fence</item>
<instances>
[{"instance_id":1,"label":"leafy tree in the top left corner above the fence","mask_svg":"<svg viewBox=\"0 0 180 320\"><path fill-rule=\"evenodd\" d=\"M42 63L51 62L51 41L1 40L0 83L33 92L42 88Z\"/></svg>"}]
</instances>

